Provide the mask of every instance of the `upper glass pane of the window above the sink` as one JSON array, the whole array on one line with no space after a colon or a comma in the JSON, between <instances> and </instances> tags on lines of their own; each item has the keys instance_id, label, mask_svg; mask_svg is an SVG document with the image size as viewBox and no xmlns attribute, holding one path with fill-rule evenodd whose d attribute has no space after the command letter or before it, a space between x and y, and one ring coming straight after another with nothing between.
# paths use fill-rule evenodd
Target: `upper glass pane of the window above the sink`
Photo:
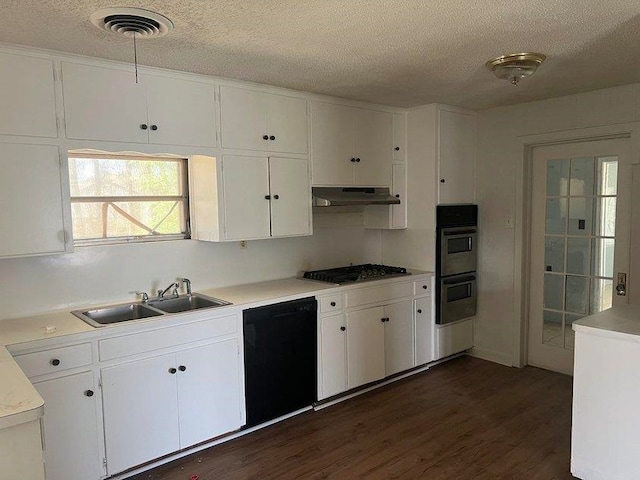
<instances>
[{"instance_id":1,"label":"upper glass pane of the window above the sink","mask_svg":"<svg viewBox=\"0 0 640 480\"><path fill-rule=\"evenodd\" d=\"M181 162L70 157L71 196L182 195Z\"/></svg>"}]
</instances>

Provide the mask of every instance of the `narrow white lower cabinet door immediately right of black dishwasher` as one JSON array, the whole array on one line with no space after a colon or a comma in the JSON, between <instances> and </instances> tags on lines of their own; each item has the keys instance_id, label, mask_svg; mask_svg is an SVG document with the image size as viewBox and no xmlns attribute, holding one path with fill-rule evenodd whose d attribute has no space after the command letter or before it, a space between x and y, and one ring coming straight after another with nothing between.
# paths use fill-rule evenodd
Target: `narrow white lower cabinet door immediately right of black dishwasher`
<instances>
[{"instance_id":1,"label":"narrow white lower cabinet door immediately right of black dishwasher","mask_svg":"<svg viewBox=\"0 0 640 480\"><path fill-rule=\"evenodd\" d=\"M322 317L320 323L322 389L320 399L347 389L347 335L344 315Z\"/></svg>"}]
</instances>

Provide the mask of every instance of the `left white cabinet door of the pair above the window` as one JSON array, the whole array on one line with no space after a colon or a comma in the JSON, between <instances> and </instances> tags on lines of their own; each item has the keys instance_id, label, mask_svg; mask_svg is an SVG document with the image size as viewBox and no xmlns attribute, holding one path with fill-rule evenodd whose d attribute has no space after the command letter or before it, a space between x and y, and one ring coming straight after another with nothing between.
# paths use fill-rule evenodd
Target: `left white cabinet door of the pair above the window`
<instances>
[{"instance_id":1,"label":"left white cabinet door of the pair above the window","mask_svg":"<svg viewBox=\"0 0 640 480\"><path fill-rule=\"evenodd\" d=\"M145 85L133 71L62 62L67 138L147 143Z\"/></svg>"}]
</instances>

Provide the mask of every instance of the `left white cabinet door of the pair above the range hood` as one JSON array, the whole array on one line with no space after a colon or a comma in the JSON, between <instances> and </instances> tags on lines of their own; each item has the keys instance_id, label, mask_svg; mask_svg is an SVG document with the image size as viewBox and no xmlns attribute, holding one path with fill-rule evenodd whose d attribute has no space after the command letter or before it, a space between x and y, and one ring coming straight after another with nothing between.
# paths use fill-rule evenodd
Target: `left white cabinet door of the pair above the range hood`
<instances>
[{"instance_id":1,"label":"left white cabinet door of the pair above the range hood","mask_svg":"<svg viewBox=\"0 0 640 480\"><path fill-rule=\"evenodd\" d=\"M311 104L313 185L353 185L354 108Z\"/></svg>"}]
</instances>

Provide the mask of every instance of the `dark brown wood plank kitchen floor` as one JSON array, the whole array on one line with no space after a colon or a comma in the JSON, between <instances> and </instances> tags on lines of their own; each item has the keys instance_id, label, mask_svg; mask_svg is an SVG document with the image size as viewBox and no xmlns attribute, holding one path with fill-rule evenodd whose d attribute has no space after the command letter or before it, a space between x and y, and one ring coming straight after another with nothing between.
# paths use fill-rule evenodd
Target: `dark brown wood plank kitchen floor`
<instances>
[{"instance_id":1,"label":"dark brown wood plank kitchen floor","mask_svg":"<svg viewBox=\"0 0 640 480\"><path fill-rule=\"evenodd\" d=\"M130 480L564 480L570 433L570 377L461 357Z\"/></svg>"}]
</instances>

